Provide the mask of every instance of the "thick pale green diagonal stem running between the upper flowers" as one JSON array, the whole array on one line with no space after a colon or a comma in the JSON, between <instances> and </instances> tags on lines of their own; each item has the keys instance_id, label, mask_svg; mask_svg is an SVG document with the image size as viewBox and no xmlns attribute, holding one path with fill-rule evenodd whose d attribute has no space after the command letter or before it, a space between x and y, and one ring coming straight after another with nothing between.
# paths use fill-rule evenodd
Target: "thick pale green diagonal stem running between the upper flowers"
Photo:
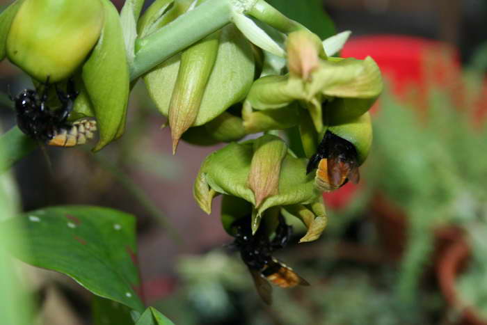
<instances>
[{"instance_id":1,"label":"thick pale green diagonal stem running between the upper flowers","mask_svg":"<svg viewBox=\"0 0 487 325\"><path fill-rule=\"evenodd\" d=\"M194 42L230 23L232 0L207 0L145 38L136 42L136 56L130 67L135 79Z\"/></svg>"}]
</instances>

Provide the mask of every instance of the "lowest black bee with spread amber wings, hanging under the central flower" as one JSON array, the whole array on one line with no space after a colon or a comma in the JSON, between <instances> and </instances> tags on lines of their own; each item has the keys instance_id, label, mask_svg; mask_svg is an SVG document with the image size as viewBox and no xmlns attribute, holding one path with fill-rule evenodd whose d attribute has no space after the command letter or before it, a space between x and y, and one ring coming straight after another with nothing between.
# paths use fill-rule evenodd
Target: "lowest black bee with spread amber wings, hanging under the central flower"
<instances>
[{"instance_id":1,"label":"lowest black bee with spread amber wings, hanging under the central flower","mask_svg":"<svg viewBox=\"0 0 487 325\"><path fill-rule=\"evenodd\" d=\"M272 253L283 248L292 235L292 227L279 217L276 235L272 240L262 231L262 227L252 235L250 219L242 218L234 225L235 240L231 246L239 249L241 259L247 265L250 274L262 300L271 305L272 287L269 281L279 287L295 287L296 285L310 285L308 281L298 276L290 267L280 262Z\"/></svg>"}]
</instances>

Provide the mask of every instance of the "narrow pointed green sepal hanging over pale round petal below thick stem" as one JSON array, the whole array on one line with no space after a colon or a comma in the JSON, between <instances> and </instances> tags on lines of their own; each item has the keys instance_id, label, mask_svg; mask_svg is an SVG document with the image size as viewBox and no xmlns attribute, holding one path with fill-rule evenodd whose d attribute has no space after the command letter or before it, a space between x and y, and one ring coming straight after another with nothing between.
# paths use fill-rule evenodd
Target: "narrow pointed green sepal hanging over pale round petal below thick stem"
<instances>
[{"instance_id":1,"label":"narrow pointed green sepal hanging over pale round petal below thick stem","mask_svg":"<svg viewBox=\"0 0 487 325\"><path fill-rule=\"evenodd\" d=\"M219 32L212 33L181 55L179 72L169 104L169 125L173 136L173 154L182 134L193 125L211 70L216 61Z\"/></svg>"}]
</instances>

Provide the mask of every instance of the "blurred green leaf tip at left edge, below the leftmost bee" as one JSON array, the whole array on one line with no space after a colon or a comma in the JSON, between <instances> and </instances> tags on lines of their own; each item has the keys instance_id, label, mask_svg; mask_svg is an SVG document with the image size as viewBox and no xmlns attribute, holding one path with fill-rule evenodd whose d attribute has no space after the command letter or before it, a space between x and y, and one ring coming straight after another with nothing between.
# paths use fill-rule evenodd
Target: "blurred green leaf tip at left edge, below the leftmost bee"
<instances>
[{"instance_id":1,"label":"blurred green leaf tip at left edge, below the leftmost bee","mask_svg":"<svg viewBox=\"0 0 487 325\"><path fill-rule=\"evenodd\" d=\"M15 126L0 136L0 174L37 148L38 143Z\"/></svg>"}]
</instances>

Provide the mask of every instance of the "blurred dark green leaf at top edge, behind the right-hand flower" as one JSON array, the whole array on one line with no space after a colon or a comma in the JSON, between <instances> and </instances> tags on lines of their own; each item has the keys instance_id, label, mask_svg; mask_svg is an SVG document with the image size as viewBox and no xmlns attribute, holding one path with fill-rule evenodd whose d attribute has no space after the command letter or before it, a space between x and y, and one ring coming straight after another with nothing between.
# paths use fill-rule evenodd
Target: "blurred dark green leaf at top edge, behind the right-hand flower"
<instances>
[{"instance_id":1,"label":"blurred dark green leaf at top edge, behind the right-hand flower","mask_svg":"<svg viewBox=\"0 0 487 325\"><path fill-rule=\"evenodd\" d=\"M335 24L324 12L321 0L266 0L287 17L300 22L323 40L335 35Z\"/></svg>"}]
</instances>

